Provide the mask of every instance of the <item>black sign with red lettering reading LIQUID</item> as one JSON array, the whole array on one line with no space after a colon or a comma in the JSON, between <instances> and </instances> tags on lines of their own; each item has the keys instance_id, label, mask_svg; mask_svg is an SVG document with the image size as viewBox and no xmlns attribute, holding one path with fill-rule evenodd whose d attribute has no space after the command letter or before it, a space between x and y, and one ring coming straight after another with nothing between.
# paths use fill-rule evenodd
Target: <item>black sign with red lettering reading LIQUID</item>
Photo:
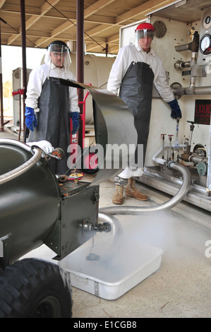
<instances>
[{"instance_id":1,"label":"black sign with red lettering reading LIQUID","mask_svg":"<svg viewBox=\"0 0 211 332\"><path fill-rule=\"evenodd\" d=\"M195 124L210 124L211 100L195 100Z\"/></svg>"}]
</instances>

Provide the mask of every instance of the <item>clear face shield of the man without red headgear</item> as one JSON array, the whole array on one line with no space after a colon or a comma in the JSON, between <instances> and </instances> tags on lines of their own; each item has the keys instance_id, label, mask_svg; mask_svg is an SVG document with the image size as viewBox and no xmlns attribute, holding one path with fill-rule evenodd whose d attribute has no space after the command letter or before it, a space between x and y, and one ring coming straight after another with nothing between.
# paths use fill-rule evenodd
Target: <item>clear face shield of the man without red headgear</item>
<instances>
[{"instance_id":1,"label":"clear face shield of the man without red headgear","mask_svg":"<svg viewBox=\"0 0 211 332\"><path fill-rule=\"evenodd\" d=\"M66 45L52 44L49 45L47 53L44 57L44 62L47 64L49 60L52 59L52 62L56 63L56 60L61 60L61 65L64 67L71 66L71 55L69 49Z\"/></svg>"}]
</instances>

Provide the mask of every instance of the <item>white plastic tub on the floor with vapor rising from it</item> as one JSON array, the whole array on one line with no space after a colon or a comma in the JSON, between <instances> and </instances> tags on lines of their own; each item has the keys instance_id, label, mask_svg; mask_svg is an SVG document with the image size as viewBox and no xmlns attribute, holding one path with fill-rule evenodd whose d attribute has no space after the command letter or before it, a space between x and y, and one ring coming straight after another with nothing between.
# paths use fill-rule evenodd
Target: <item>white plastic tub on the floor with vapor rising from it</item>
<instances>
[{"instance_id":1,"label":"white plastic tub on the floor with vapor rising from it","mask_svg":"<svg viewBox=\"0 0 211 332\"><path fill-rule=\"evenodd\" d=\"M93 254L97 260L88 260ZM157 271L162 249L138 242L94 242L92 239L59 262L71 285L106 300L116 300Z\"/></svg>"}]
</instances>

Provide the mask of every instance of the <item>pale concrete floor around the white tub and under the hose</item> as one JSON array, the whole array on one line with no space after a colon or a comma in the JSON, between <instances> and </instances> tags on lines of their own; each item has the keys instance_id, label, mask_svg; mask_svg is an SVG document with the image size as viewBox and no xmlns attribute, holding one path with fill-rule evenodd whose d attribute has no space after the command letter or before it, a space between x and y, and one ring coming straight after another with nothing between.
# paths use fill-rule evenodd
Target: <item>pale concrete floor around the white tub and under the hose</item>
<instances>
[{"instance_id":1,"label":"pale concrete floor around the white tub and under the hose","mask_svg":"<svg viewBox=\"0 0 211 332\"><path fill-rule=\"evenodd\" d=\"M0 133L0 138L3 137L14 135ZM150 200L125 198L126 206L156 205L171 198L140 183L137 187L149 194ZM111 181L100 184L100 207L114 206L113 192ZM122 241L134 248L134 255L128 257L124 253L122 259L128 262L135 259L138 263L135 243L150 245L163 250L161 266L116 300L104 300L72 287L73 318L210 318L211 244L210 250L206 247L207 241L211 243L210 213L181 202L171 211L115 217L123 229ZM104 242L108 234L96 236ZM54 253L42 245L26 256L51 260Z\"/></svg>"}]
</instances>

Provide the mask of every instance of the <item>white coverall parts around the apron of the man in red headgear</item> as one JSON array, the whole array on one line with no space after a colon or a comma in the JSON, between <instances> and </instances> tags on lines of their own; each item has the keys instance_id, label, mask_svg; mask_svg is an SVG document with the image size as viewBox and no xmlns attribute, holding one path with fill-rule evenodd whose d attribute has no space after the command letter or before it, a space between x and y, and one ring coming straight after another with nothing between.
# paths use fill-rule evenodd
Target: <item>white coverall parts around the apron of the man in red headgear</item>
<instances>
[{"instance_id":1,"label":"white coverall parts around the apron of the man in red headgear","mask_svg":"<svg viewBox=\"0 0 211 332\"><path fill-rule=\"evenodd\" d=\"M167 83L167 77L161 59L152 49L150 49L150 52L148 53L143 51L138 42L136 42L135 45L128 45L119 49L119 53L111 68L107 90L116 95L118 94L123 76L126 74L126 71L132 62L144 62L149 64L155 76L155 88L157 88L162 99L165 102L171 102L171 100L174 100L174 93L172 93L171 88ZM119 174L119 177L130 179L131 177L140 177L141 174L143 174L142 168L132 170L131 167L128 166Z\"/></svg>"}]
</instances>

